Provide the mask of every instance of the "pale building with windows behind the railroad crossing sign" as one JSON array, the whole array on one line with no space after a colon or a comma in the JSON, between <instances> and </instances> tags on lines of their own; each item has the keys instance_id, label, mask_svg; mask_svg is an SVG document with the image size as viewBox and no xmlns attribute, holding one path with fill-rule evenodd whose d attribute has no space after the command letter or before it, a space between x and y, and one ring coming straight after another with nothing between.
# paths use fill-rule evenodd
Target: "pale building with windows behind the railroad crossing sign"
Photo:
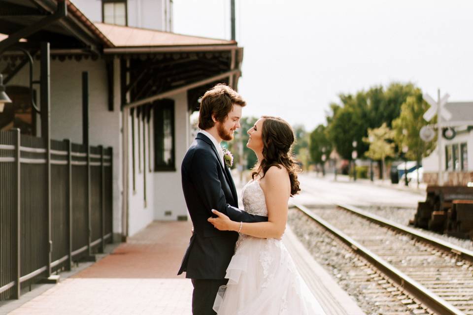
<instances>
[{"instance_id":1,"label":"pale building with windows behind the railroad crossing sign","mask_svg":"<svg viewBox=\"0 0 473 315\"><path fill-rule=\"evenodd\" d=\"M455 136L442 138L440 147L443 185L466 186L473 182L473 102L450 102L445 108L452 114L442 126L452 127ZM451 131L451 130L449 130ZM424 182L437 185L439 148L422 160Z\"/></svg>"}]
</instances>

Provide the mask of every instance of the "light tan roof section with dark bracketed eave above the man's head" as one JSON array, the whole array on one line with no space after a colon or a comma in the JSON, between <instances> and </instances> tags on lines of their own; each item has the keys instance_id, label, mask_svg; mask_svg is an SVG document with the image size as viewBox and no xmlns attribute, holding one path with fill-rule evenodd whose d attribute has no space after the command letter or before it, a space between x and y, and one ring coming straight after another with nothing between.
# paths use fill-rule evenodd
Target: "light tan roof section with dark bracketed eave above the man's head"
<instances>
[{"instance_id":1,"label":"light tan roof section with dark bracketed eave above the man's head","mask_svg":"<svg viewBox=\"0 0 473 315\"><path fill-rule=\"evenodd\" d=\"M234 40L95 25L114 45L104 48L104 55L130 60L124 66L131 80L124 88L131 92L129 101L122 103L124 109L187 92L189 109L195 110L206 90L216 83L235 87L241 75L243 48Z\"/></svg>"}]
</instances>

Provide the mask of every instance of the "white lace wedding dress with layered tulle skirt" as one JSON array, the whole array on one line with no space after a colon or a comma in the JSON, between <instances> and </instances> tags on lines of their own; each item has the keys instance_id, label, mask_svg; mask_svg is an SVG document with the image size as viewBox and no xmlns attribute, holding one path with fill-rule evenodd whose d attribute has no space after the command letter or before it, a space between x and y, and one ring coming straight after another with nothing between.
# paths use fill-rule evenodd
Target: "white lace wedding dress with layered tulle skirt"
<instances>
[{"instance_id":1,"label":"white lace wedding dress with layered tulle skirt","mask_svg":"<svg viewBox=\"0 0 473 315\"><path fill-rule=\"evenodd\" d=\"M258 181L242 195L246 212L268 216ZM213 306L218 315L325 315L280 240L240 234L225 278Z\"/></svg>"}]
</instances>

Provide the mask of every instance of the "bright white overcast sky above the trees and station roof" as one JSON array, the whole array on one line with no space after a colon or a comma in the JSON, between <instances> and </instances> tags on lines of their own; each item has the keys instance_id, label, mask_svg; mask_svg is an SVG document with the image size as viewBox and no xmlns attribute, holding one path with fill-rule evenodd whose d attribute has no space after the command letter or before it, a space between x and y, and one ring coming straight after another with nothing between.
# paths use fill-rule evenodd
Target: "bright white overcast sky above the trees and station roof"
<instances>
[{"instance_id":1,"label":"bright white overcast sky above the trees and station roof","mask_svg":"<svg viewBox=\"0 0 473 315\"><path fill-rule=\"evenodd\" d=\"M173 0L174 32L230 39L230 0ZM340 93L412 82L473 101L471 0L236 0L243 116L312 130Z\"/></svg>"}]
</instances>

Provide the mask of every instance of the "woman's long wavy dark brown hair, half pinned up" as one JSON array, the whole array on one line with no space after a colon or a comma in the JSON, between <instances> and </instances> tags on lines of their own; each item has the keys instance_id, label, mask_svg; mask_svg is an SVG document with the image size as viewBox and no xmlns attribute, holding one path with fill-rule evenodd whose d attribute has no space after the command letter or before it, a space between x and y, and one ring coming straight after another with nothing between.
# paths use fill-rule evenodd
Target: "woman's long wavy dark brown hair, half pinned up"
<instances>
[{"instance_id":1,"label":"woman's long wavy dark brown hair, half pinned up","mask_svg":"<svg viewBox=\"0 0 473 315\"><path fill-rule=\"evenodd\" d=\"M294 130L279 117L262 116L262 118L265 119L262 127L263 160L255 166L251 177L255 179L255 176L263 173L261 178L264 178L271 166L280 169L282 165L289 173L291 195L295 195L301 190L297 179L301 168L292 155L292 145L295 141Z\"/></svg>"}]
</instances>

